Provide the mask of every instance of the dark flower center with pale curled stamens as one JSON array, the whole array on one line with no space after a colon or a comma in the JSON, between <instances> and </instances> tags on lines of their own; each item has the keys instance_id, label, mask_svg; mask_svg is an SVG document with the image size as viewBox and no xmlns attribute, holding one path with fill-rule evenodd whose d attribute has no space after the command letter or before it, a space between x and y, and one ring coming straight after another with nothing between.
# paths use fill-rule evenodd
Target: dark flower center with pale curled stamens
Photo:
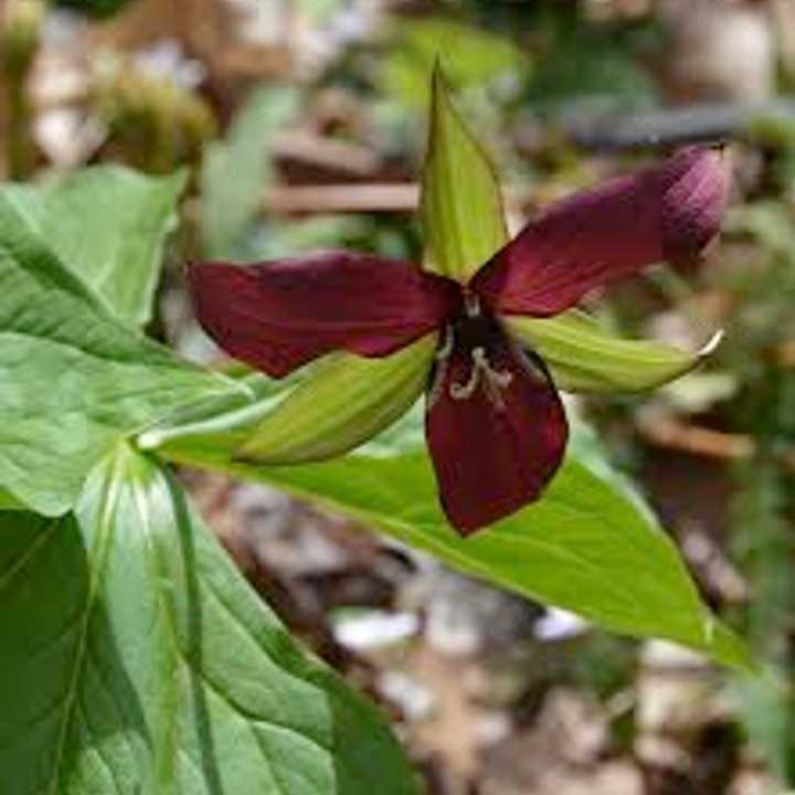
<instances>
[{"instance_id":1,"label":"dark flower center with pale curled stamens","mask_svg":"<svg viewBox=\"0 0 795 795\"><path fill-rule=\"evenodd\" d=\"M483 311L476 296L466 296L464 310L447 327L444 344L436 353L438 372L434 391L442 388L449 358L455 350L458 354L468 356L471 364L466 379L449 382L449 396L455 401L465 401L483 389L496 409L505 409L502 392L513 380L513 373L494 365L495 350L499 344L504 344L504 340L497 320Z\"/></svg>"}]
</instances>

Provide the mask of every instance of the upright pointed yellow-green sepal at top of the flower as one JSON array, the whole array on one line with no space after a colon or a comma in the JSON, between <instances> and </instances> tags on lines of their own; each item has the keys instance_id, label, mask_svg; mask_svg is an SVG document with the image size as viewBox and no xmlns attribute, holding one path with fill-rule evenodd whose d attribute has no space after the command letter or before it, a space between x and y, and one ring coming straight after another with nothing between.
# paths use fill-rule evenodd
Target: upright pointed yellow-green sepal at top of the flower
<instances>
[{"instance_id":1,"label":"upright pointed yellow-green sepal at top of the flower","mask_svg":"<svg viewBox=\"0 0 795 795\"><path fill-rule=\"evenodd\" d=\"M502 194L486 152L453 107L437 66L420 199L427 271L466 282L508 241Z\"/></svg>"}]
</instances>

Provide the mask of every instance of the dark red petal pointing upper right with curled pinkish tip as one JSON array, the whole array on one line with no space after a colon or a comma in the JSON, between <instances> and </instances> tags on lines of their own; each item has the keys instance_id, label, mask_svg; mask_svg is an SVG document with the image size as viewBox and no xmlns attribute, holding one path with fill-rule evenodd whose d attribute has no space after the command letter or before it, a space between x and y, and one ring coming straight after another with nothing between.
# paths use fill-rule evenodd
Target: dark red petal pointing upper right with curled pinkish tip
<instances>
[{"instance_id":1,"label":"dark red petal pointing upper right with curled pinkish tip","mask_svg":"<svg viewBox=\"0 0 795 795\"><path fill-rule=\"evenodd\" d=\"M495 311L556 315L645 265L700 253L720 229L728 190L721 149L681 149L661 166L553 205L471 287Z\"/></svg>"}]
</instances>

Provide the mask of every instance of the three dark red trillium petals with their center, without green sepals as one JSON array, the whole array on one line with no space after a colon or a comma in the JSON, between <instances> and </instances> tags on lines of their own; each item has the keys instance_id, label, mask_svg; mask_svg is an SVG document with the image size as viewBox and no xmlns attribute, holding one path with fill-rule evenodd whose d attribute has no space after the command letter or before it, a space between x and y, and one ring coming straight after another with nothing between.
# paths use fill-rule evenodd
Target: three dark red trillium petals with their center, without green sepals
<instances>
[{"instance_id":1,"label":"three dark red trillium petals with their center, without green sepals","mask_svg":"<svg viewBox=\"0 0 795 795\"><path fill-rule=\"evenodd\" d=\"M332 252L195 263L190 286L208 333L274 378L335 350L389 357L438 332L426 439L445 513L468 534L536 500L568 439L543 360L502 318L549 318L644 266L691 259L718 233L728 188L722 149L688 147L552 205L465 284Z\"/></svg>"}]
</instances>

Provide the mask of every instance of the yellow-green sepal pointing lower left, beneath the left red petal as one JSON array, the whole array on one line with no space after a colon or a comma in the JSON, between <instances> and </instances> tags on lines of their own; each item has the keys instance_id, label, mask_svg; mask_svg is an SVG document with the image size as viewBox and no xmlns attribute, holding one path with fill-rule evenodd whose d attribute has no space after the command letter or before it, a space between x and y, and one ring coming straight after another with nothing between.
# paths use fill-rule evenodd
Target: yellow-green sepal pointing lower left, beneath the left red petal
<instances>
[{"instance_id":1,"label":"yellow-green sepal pointing lower left, beneath the left red petal","mask_svg":"<svg viewBox=\"0 0 795 795\"><path fill-rule=\"evenodd\" d=\"M437 341L431 333L383 359L329 357L262 418L234 458L300 464L358 447L416 402L427 384Z\"/></svg>"}]
</instances>

